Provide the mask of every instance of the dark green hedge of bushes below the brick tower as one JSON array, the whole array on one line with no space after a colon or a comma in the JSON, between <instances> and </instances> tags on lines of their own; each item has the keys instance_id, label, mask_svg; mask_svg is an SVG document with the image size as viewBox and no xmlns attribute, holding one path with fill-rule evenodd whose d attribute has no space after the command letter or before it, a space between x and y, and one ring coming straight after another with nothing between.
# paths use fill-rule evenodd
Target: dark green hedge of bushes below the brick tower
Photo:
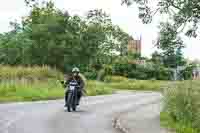
<instances>
[{"instance_id":1,"label":"dark green hedge of bushes below the brick tower","mask_svg":"<svg viewBox=\"0 0 200 133\"><path fill-rule=\"evenodd\" d=\"M115 60L112 65L112 74L133 79L170 80L171 71L162 64L147 61L144 64L131 63L126 57Z\"/></svg>"}]
</instances>

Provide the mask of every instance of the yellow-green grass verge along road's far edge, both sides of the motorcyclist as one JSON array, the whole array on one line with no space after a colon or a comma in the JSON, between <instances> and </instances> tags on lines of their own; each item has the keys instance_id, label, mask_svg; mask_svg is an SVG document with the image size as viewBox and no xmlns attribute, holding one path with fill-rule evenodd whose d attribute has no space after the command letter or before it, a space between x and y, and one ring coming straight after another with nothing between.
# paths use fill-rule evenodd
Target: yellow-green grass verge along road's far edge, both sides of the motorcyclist
<instances>
[{"instance_id":1,"label":"yellow-green grass verge along road's far edge, both sides of the motorcyclist","mask_svg":"<svg viewBox=\"0 0 200 133\"><path fill-rule=\"evenodd\" d=\"M64 97L64 88L58 82L63 73L48 66L11 67L0 65L0 102L36 101ZM112 94L114 90L160 90L164 82L138 81L125 77L107 77L106 82L87 81L87 95Z\"/></svg>"}]
</instances>

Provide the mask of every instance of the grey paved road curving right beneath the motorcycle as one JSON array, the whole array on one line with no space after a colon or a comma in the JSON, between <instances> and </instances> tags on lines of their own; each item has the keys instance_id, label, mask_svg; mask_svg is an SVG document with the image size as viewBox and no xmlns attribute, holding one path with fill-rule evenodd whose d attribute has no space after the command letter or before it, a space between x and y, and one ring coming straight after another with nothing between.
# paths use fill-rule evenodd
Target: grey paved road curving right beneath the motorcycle
<instances>
[{"instance_id":1,"label":"grey paved road curving right beneath the motorcycle","mask_svg":"<svg viewBox=\"0 0 200 133\"><path fill-rule=\"evenodd\" d=\"M116 133L112 122L119 113L159 105L160 99L153 92L85 97L78 111L71 113L63 111L63 100L2 104L0 133Z\"/></svg>"}]
</instances>

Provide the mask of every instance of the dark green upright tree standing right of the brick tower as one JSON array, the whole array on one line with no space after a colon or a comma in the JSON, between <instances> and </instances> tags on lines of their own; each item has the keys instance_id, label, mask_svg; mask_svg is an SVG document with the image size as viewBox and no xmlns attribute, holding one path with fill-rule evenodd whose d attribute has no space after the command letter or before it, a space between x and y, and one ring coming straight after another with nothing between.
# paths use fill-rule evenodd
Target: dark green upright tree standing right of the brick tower
<instances>
[{"instance_id":1,"label":"dark green upright tree standing right of the brick tower","mask_svg":"<svg viewBox=\"0 0 200 133\"><path fill-rule=\"evenodd\" d=\"M184 65L182 49L184 43L170 23L161 23L156 46L162 50L163 61L166 67L176 68Z\"/></svg>"}]
</instances>

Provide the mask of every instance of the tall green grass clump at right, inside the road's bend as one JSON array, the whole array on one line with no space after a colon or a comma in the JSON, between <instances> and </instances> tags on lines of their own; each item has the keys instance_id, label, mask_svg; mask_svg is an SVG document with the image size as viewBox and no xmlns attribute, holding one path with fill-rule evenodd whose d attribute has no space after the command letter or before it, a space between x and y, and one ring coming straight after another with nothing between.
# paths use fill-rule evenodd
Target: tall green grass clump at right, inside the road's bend
<instances>
[{"instance_id":1,"label":"tall green grass clump at right, inside the road's bend","mask_svg":"<svg viewBox=\"0 0 200 133\"><path fill-rule=\"evenodd\" d=\"M171 84L164 94L166 116L178 123L178 133L200 132L200 81L184 81ZM164 119L162 119L164 120ZM186 129L188 131L186 132ZM189 130L190 129L190 130Z\"/></svg>"}]
</instances>

